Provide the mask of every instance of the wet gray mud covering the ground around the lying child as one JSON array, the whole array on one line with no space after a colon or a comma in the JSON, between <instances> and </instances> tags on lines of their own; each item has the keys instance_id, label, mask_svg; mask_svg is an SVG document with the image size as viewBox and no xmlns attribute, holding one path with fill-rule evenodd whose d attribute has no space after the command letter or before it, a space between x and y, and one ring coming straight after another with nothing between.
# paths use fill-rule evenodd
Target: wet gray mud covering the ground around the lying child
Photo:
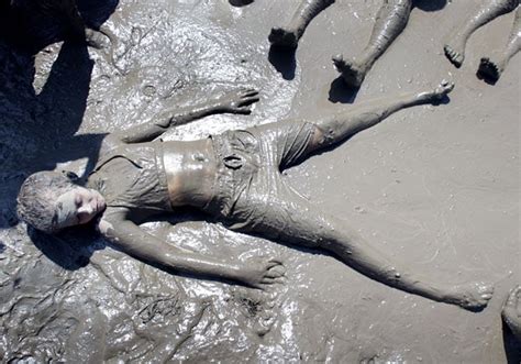
<instances>
[{"instance_id":1,"label":"wet gray mud covering the ground around the lying child","mask_svg":"<svg viewBox=\"0 0 521 364\"><path fill-rule=\"evenodd\" d=\"M331 55L362 49L380 1L337 1L322 12L301 38L291 80L268 62L267 35L290 19L297 1L121 1L104 24L118 36L112 54L55 44L33 62L0 44L1 361L512 360L500 310L521 280L520 57L495 86L475 77L480 57L505 43L511 13L475 33L461 69L446 62L445 37L475 3L413 9L356 95L335 81ZM100 135L167 106L236 86L262 90L252 115L214 115L165 136L191 140L282 118L312 120L353 101L429 89L442 78L456 82L450 103L400 111L285 175L411 269L440 282L495 284L478 313L189 211L144 228L209 255L279 256L286 283L260 293L170 275L89 236L27 231L13 212L24 176L44 168L81 174L96 162Z\"/></svg>"}]
</instances>

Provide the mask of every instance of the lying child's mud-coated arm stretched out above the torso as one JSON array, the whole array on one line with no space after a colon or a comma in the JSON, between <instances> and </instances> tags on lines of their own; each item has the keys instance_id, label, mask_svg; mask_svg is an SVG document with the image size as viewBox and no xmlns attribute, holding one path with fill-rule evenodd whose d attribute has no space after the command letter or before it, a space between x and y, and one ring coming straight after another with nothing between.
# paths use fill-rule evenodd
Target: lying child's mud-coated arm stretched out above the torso
<instances>
[{"instance_id":1,"label":"lying child's mud-coated arm stretched out above the torso","mask_svg":"<svg viewBox=\"0 0 521 364\"><path fill-rule=\"evenodd\" d=\"M251 112L252 103L255 103L258 100L258 91L254 89L231 91L222 97L207 100L206 102L195 107L171 108L165 110L156 115L151 122L112 133L109 136L109 140L128 144L149 142L165 133L168 128L182 125L211 114L247 114Z\"/></svg>"}]
</instances>

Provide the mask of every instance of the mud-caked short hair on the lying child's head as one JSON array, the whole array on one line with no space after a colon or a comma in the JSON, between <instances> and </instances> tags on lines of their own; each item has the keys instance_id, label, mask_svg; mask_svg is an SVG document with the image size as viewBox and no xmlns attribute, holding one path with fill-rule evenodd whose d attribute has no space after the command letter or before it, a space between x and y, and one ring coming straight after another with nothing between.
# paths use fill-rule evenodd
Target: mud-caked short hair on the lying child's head
<instances>
[{"instance_id":1,"label":"mud-caked short hair on the lying child's head","mask_svg":"<svg viewBox=\"0 0 521 364\"><path fill-rule=\"evenodd\" d=\"M77 177L76 177L77 178ZM36 230L56 233L56 200L77 185L74 174L52 170L29 176L20 187L16 212L20 219Z\"/></svg>"}]
</instances>

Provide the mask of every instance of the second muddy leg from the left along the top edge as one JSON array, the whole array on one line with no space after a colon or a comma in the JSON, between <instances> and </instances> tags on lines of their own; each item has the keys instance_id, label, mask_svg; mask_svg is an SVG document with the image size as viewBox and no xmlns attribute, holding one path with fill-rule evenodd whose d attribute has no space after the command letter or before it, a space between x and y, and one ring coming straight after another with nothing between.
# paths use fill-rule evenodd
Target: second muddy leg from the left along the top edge
<instances>
[{"instance_id":1,"label":"second muddy leg from the left along the top edge","mask_svg":"<svg viewBox=\"0 0 521 364\"><path fill-rule=\"evenodd\" d=\"M384 52L406 29L411 13L412 0L385 0L373 27L369 43L362 54L351 60L342 55L333 57L333 64L350 87L359 87L365 75Z\"/></svg>"}]
</instances>

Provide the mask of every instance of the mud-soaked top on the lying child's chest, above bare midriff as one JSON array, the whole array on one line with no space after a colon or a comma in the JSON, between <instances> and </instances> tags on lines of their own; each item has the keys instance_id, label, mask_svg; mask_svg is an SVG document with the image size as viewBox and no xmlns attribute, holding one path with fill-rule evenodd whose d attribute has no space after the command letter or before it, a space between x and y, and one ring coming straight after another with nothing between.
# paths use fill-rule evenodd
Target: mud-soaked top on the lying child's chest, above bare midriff
<instances>
[{"instance_id":1,"label":"mud-soaked top on the lying child's chest, above bare midriff","mask_svg":"<svg viewBox=\"0 0 521 364\"><path fill-rule=\"evenodd\" d=\"M122 144L104 153L89 176L108 208L171 211L163 143Z\"/></svg>"}]
</instances>

